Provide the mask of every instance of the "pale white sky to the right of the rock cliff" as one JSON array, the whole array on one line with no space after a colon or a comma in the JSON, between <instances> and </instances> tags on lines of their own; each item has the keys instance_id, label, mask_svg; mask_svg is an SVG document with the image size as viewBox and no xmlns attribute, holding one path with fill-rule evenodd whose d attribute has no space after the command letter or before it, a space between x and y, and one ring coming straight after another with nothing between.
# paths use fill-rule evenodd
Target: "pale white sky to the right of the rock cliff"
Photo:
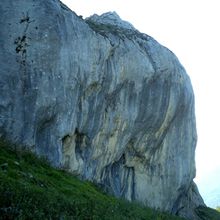
<instances>
[{"instance_id":1,"label":"pale white sky to the right of the rock cliff","mask_svg":"<svg viewBox=\"0 0 220 220\"><path fill-rule=\"evenodd\" d=\"M84 18L94 13L116 11L123 20L129 21L136 29L152 36L177 55L191 78L196 99L196 182L202 190L204 187L212 187L203 184L212 173L212 178L216 178L213 181L219 181L220 187L220 1L62 2Z\"/></svg>"}]
</instances>

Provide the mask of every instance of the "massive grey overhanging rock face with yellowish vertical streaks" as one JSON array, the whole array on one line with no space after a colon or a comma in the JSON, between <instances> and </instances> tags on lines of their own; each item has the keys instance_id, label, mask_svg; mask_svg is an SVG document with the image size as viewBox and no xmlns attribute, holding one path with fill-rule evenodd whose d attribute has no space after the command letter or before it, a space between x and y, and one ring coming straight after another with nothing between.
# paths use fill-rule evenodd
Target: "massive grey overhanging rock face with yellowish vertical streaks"
<instances>
[{"instance_id":1,"label":"massive grey overhanging rock face with yellowish vertical streaks","mask_svg":"<svg viewBox=\"0 0 220 220\"><path fill-rule=\"evenodd\" d=\"M196 127L176 56L116 13L0 3L0 135L117 197L196 219Z\"/></svg>"}]
</instances>

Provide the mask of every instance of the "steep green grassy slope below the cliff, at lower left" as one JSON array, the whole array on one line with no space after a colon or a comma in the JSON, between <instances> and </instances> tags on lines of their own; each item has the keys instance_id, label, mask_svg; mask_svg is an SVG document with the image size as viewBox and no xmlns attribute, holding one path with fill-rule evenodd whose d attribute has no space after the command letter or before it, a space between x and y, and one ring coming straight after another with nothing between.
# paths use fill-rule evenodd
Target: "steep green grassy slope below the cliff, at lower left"
<instances>
[{"instance_id":1,"label":"steep green grassy slope below the cliff, at lower left","mask_svg":"<svg viewBox=\"0 0 220 220\"><path fill-rule=\"evenodd\" d=\"M12 148L0 141L0 219L181 219L108 196L92 183Z\"/></svg>"}]
</instances>

